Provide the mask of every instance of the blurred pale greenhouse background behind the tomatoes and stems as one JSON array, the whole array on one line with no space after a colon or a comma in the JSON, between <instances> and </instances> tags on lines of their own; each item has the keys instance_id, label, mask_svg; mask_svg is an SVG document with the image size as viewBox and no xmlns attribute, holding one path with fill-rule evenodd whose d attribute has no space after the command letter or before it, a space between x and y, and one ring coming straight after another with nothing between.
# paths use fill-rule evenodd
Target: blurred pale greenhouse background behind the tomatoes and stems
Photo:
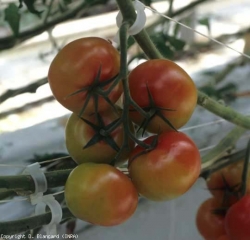
<instances>
[{"instance_id":1,"label":"blurred pale greenhouse background behind the tomatoes and stems","mask_svg":"<svg viewBox=\"0 0 250 240\"><path fill-rule=\"evenodd\" d=\"M237 51L250 53L250 0L142 1L160 13L213 37ZM22 7L19 8L20 3ZM146 29L163 55L188 72L198 88L237 111L250 112L250 66L247 58L190 29L145 10ZM57 103L47 84L49 65L68 42L88 36L112 40L116 26L114 0L0 1L0 174L20 173L38 160L67 155L64 128L69 111ZM129 40L129 68L145 61ZM182 129L202 155L233 125L197 107ZM246 146L249 132L235 146ZM77 221L74 233L85 240L201 240L195 226L197 208L210 195L203 179L170 202L141 199L134 216L118 227L96 227ZM0 205L0 220L29 216L29 202ZM0 223L1 224L1 223ZM72 228L64 223L60 233ZM80 237L81 236L81 237Z\"/></svg>"}]
</instances>

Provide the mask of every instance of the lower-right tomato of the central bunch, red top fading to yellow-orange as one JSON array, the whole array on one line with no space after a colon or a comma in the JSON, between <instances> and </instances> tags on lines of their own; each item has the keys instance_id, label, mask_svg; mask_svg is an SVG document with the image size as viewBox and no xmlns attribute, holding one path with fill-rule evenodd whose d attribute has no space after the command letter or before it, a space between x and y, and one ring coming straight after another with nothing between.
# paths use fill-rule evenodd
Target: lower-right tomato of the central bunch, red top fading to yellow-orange
<instances>
[{"instance_id":1,"label":"lower-right tomato of the central bunch, red top fading to yellow-orange","mask_svg":"<svg viewBox=\"0 0 250 240\"><path fill-rule=\"evenodd\" d=\"M156 136L144 142L151 144ZM164 201L184 194L200 174L201 159L194 142L181 132L164 132L153 150L137 146L129 157L129 175L137 191L148 199ZM143 153L143 154L141 154Z\"/></svg>"}]
</instances>

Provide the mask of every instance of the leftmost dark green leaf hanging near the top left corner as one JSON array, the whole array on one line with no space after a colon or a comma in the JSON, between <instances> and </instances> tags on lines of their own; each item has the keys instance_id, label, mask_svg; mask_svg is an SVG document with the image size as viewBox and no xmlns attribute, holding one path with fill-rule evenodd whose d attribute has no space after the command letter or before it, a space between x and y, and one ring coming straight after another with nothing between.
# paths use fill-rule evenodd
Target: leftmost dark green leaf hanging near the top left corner
<instances>
[{"instance_id":1,"label":"leftmost dark green leaf hanging near the top left corner","mask_svg":"<svg viewBox=\"0 0 250 240\"><path fill-rule=\"evenodd\" d=\"M19 33L19 22L20 14L18 12L18 7L14 3L10 3L9 6L4 10L5 18L14 33L15 36Z\"/></svg>"}]
</instances>

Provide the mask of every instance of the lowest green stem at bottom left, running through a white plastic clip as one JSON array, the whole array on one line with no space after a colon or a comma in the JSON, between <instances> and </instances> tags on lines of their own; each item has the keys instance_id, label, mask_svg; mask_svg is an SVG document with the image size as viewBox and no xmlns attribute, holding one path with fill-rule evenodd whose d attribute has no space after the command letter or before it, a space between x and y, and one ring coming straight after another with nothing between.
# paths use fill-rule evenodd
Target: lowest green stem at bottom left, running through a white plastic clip
<instances>
[{"instance_id":1,"label":"lowest green stem at bottom left, running through a white plastic clip","mask_svg":"<svg viewBox=\"0 0 250 240\"><path fill-rule=\"evenodd\" d=\"M62 208L62 212L63 212L62 219L74 217L72 213L69 211L69 209L66 207ZM0 222L0 233L5 235L22 233L27 230L47 225L50 223L50 220L51 220L51 212L47 212L44 214L27 217L15 221Z\"/></svg>"}]
</instances>

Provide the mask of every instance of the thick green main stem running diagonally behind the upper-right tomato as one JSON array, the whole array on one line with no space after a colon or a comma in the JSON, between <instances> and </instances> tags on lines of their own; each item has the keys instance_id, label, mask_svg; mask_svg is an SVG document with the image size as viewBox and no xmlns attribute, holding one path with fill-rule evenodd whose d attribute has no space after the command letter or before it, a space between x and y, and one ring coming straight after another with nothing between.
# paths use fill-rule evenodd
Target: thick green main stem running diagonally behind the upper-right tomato
<instances>
[{"instance_id":1,"label":"thick green main stem running diagonally behind the upper-right tomato","mask_svg":"<svg viewBox=\"0 0 250 240\"><path fill-rule=\"evenodd\" d=\"M116 0L121 10L124 21L134 21L136 13L131 0ZM163 58L158 49L154 46L145 30L134 36L142 50L150 59ZM225 107L220 103L209 98L206 94L198 92L198 104L208 111L215 113L216 115L232 122L238 126L250 129L250 119L230 107Z\"/></svg>"}]
</instances>

